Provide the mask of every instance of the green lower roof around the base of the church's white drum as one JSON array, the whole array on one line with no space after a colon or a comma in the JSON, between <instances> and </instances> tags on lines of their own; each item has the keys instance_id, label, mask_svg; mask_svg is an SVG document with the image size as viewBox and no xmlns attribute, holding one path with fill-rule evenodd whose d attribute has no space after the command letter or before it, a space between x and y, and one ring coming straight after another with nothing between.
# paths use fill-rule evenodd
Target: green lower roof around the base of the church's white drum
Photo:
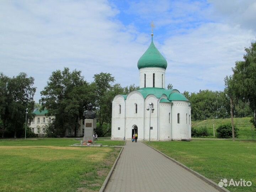
<instances>
[{"instance_id":1,"label":"green lower roof around the base of the church's white drum","mask_svg":"<svg viewBox=\"0 0 256 192\"><path fill-rule=\"evenodd\" d=\"M188 101L188 99L180 93L177 89L163 89L158 87L145 87L141 88L139 91L143 98L145 99L148 95L154 95L156 98L162 97L162 95L166 95L169 101ZM161 99L160 102L164 102L165 100ZM167 102L169 102L167 101Z\"/></svg>"}]
</instances>

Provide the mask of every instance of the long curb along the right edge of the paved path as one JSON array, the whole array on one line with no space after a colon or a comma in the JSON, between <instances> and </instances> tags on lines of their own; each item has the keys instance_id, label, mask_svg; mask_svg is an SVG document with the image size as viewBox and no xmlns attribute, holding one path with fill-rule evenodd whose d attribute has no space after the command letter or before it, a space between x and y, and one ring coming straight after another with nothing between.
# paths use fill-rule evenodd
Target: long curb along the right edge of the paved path
<instances>
[{"instance_id":1,"label":"long curb along the right edge of the paved path","mask_svg":"<svg viewBox=\"0 0 256 192\"><path fill-rule=\"evenodd\" d=\"M142 142L144 143L144 142ZM148 145L146 143L144 143L145 145ZM207 182L209 185L213 186L214 188L216 188L217 190L219 191L222 191L222 192L230 192L229 190L227 190L226 188L221 188L218 186L217 183L213 182L212 180L208 179L207 177L199 174L198 172L190 169L189 167L187 167L186 165L183 165L182 163L176 161L175 159L172 159L170 158L169 156L165 155L164 153L162 153L161 151L155 149L154 147L148 145L150 148L156 150L158 153L160 153L161 155L165 156L167 159L170 159L171 161L175 162L176 164L180 165L181 167L183 167L184 169L186 169L187 171L191 172L192 174L196 175L197 177L201 178L203 181Z\"/></svg>"}]
</instances>

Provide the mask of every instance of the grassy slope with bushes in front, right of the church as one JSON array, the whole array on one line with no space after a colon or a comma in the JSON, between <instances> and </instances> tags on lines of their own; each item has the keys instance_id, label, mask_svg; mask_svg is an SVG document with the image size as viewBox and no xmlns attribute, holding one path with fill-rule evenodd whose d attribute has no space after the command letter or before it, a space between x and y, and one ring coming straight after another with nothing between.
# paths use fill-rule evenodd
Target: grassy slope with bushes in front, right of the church
<instances>
[{"instance_id":1,"label":"grassy slope with bushes in front, right of the church","mask_svg":"<svg viewBox=\"0 0 256 192\"><path fill-rule=\"evenodd\" d=\"M251 117L244 118L234 118L234 124L239 128L238 137L239 139L256 139L256 131L252 128L252 123L250 122ZM226 123L231 123L231 119L214 119L215 135L217 134L216 129ZM207 119L204 121L192 121L192 127L207 127L208 132L213 136L213 119Z\"/></svg>"}]
</instances>

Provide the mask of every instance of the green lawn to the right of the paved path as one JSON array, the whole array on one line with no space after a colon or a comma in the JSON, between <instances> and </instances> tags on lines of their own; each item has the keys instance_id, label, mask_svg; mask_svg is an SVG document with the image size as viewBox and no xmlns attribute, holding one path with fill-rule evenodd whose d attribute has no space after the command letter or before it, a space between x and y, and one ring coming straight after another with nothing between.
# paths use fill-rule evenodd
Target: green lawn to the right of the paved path
<instances>
[{"instance_id":1,"label":"green lawn to the right of the paved path","mask_svg":"<svg viewBox=\"0 0 256 192\"><path fill-rule=\"evenodd\" d=\"M226 178L251 181L251 187L227 187L232 192L256 191L256 142L193 140L191 142L146 142L214 182Z\"/></svg>"}]
</instances>

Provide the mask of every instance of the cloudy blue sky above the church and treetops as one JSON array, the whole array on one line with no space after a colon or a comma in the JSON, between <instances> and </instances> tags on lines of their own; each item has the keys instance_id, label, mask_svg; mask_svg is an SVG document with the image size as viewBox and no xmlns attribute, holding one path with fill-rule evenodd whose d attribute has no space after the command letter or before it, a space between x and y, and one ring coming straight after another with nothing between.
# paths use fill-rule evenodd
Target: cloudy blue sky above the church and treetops
<instances>
[{"instance_id":1,"label":"cloudy blue sky above the church and treetops","mask_svg":"<svg viewBox=\"0 0 256 192\"><path fill-rule=\"evenodd\" d=\"M244 48L256 40L255 0L1 1L0 71L35 78L39 100L52 71L87 81L101 71L139 84L137 61L151 41L168 62L166 86L223 90Z\"/></svg>"}]
</instances>

